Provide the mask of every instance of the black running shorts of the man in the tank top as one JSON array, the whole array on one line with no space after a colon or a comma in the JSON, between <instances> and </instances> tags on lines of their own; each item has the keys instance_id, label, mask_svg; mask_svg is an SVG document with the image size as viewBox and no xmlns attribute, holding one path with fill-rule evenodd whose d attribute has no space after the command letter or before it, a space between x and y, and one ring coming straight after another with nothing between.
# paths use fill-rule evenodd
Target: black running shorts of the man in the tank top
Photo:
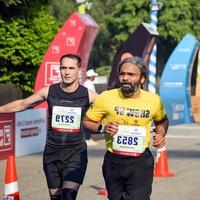
<instances>
[{"instance_id":1,"label":"black running shorts of the man in the tank top","mask_svg":"<svg viewBox=\"0 0 200 200\"><path fill-rule=\"evenodd\" d=\"M49 189L62 186L63 181L83 183L87 169L86 144L55 148L46 145L43 154L43 169Z\"/></svg>"}]
</instances>

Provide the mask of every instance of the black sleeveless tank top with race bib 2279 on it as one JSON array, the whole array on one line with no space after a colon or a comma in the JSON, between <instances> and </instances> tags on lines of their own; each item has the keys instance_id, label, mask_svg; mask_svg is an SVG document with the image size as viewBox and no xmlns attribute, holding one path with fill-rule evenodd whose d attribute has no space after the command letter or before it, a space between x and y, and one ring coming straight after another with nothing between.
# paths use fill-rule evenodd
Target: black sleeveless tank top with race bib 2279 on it
<instances>
[{"instance_id":1,"label":"black sleeveless tank top with race bib 2279 on it","mask_svg":"<svg viewBox=\"0 0 200 200\"><path fill-rule=\"evenodd\" d=\"M80 122L89 108L87 88L79 85L76 91L67 93L61 89L60 83L53 84L49 87L47 103L47 145L63 147L84 143L85 135Z\"/></svg>"}]
</instances>

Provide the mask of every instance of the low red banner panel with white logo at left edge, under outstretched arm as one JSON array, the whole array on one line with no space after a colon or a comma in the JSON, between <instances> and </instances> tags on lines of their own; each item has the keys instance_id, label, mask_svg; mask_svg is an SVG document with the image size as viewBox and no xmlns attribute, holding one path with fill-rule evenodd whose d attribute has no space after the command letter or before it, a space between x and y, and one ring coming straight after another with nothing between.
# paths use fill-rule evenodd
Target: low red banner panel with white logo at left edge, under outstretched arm
<instances>
[{"instance_id":1,"label":"low red banner panel with white logo at left edge, under outstretched arm","mask_svg":"<svg viewBox=\"0 0 200 200\"><path fill-rule=\"evenodd\" d=\"M15 114L0 114L0 160L15 155Z\"/></svg>"}]
</instances>

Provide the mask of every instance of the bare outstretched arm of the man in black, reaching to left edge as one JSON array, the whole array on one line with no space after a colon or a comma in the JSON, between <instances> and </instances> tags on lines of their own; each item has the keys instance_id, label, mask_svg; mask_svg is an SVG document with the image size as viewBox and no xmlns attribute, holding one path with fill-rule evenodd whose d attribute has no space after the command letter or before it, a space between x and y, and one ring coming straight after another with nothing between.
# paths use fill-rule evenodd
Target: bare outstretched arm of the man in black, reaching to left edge
<instances>
[{"instance_id":1,"label":"bare outstretched arm of the man in black, reaching to left edge","mask_svg":"<svg viewBox=\"0 0 200 200\"><path fill-rule=\"evenodd\" d=\"M33 107L34 105L37 105L45 101L48 95L48 91L49 91L49 88L44 87L41 90L39 90L37 93L31 95L30 97L16 100L8 104L5 104L3 106L0 106L0 113L18 112L18 111L25 110L29 107Z\"/></svg>"}]
</instances>

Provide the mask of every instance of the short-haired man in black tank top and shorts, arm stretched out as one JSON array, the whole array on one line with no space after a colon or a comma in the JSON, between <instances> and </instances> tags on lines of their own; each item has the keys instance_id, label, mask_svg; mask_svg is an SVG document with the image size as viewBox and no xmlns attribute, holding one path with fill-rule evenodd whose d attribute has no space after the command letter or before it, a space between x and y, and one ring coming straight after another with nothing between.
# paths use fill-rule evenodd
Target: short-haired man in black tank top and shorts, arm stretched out
<instances>
[{"instance_id":1,"label":"short-haired man in black tank top and shorts, arm stretched out","mask_svg":"<svg viewBox=\"0 0 200 200\"><path fill-rule=\"evenodd\" d=\"M81 58L75 54L63 55L60 83L0 106L0 113L9 113L47 101L49 123L43 169L51 200L75 200L87 169L87 145L81 120L97 94L79 84L80 72Z\"/></svg>"}]
</instances>

